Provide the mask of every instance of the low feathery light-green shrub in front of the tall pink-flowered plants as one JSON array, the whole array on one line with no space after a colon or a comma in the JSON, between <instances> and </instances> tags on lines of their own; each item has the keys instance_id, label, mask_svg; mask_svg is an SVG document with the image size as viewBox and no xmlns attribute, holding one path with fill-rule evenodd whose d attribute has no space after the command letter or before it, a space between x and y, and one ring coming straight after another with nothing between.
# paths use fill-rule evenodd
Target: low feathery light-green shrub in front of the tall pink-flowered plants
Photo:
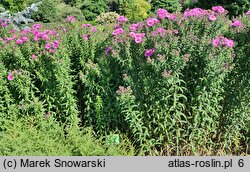
<instances>
[{"instance_id":1,"label":"low feathery light-green shrub in front of the tall pink-flowered plants","mask_svg":"<svg viewBox=\"0 0 250 172\"><path fill-rule=\"evenodd\" d=\"M8 121L0 134L0 155L4 156L118 156L133 155L133 147L123 139L119 145L106 145L96 140L88 128L81 131L69 128L68 134L57 123L49 120L38 126L34 118Z\"/></svg>"}]
</instances>

